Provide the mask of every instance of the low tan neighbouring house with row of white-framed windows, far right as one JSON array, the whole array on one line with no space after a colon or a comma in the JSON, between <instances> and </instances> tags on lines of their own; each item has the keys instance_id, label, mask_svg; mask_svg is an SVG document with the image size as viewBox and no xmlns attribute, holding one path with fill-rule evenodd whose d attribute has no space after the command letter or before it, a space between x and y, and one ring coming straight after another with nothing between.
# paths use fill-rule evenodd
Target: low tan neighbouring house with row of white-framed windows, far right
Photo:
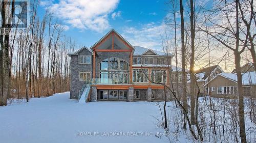
<instances>
[{"instance_id":1,"label":"low tan neighbouring house with row of white-framed windows, far right","mask_svg":"<svg viewBox=\"0 0 256 143\"><path fill-rule=\"evenodd\" d=\"M243 96L256 97L256 74L255 71L242 73ZM235 97L237 96L237 74L220 73L204 84L206 91L211 89L212 97Z\"/></svg>"}]
</instances>

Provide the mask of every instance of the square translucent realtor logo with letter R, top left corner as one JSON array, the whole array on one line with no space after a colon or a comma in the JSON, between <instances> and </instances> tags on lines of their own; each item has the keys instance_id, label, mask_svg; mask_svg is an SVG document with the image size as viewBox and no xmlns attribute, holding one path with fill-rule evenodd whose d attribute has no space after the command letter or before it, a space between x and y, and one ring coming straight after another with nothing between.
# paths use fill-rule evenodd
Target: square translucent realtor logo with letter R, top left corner
<instances>
[{"instance_id":1,"label":"square translucent realtor logo with letter R, top left corner","mask_svg":"<svg viewBox=\"0 0 256 143\"><path fill-rule=\"evenodd\" d=\"M0 3L1 34L14 33L15 31L23 33L21 30L25 30L28 26L28 11L29 3L26 0L2 1ZM5 17L2 16L4 12ZM5 20L5 25L2 25L3 20Z\"/></svg>"}]
</instances>

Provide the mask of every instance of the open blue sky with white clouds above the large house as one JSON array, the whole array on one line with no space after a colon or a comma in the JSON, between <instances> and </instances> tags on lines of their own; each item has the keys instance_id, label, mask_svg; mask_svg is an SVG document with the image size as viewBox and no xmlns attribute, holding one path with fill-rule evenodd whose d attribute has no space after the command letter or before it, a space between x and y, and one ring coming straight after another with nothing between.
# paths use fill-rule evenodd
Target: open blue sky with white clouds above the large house
<instances>
[{"instance_id":1,"label":"open blue sky with white clouds above the large house","mask_svg":"<svg viewBox=\"0 0 256 143\"><path fill-rule=\"evenodd\" d=\"M114 28L134 46L161 49L160 31L167 14L166 1L46 0L39 14L50 9L78 46L90 47Z\"/></svg>"}]
</instances>

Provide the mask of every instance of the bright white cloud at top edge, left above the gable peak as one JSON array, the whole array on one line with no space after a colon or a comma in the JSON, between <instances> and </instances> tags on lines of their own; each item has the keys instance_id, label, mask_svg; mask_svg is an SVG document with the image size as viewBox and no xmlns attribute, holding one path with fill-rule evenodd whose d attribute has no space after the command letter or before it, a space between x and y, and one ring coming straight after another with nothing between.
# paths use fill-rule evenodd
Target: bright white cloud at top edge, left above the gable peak
<instances>
[{"instance_id":1,"label":"bright white cloud at top edge, left above the gable peak","mask_svg":"<svg viewBox=\"0 0 256 143\"><path fill-rule=\"evenodd\" d=\"M49 10L59 19L81 30L103 32L110 27L108 16L119 0L59 0Z\"/></svg>"}]
</instances>

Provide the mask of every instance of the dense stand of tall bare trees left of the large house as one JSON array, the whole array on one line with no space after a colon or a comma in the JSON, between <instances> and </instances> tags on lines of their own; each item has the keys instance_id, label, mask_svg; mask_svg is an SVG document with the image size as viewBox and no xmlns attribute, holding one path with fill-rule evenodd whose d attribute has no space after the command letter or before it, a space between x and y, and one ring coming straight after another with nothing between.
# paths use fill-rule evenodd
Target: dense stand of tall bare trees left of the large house
<instances>
[{"instance_id":1,"label":"dense stand of tall bare trees left of the large house","mask_svg":"<svg viewBox=\"0 0 256 143\"><path fill-rule=\"evenodd\" d=\"M15 1L2 1L0 36L0 105L9 98L46 97L70 88L68 52L75 41L49 11L38 15L39 1L30 2L26 27L9 24ZM11 31L10 31L11 30ZM9 31L9 32L8 32Z\"/></svg>"}]
</instances>

